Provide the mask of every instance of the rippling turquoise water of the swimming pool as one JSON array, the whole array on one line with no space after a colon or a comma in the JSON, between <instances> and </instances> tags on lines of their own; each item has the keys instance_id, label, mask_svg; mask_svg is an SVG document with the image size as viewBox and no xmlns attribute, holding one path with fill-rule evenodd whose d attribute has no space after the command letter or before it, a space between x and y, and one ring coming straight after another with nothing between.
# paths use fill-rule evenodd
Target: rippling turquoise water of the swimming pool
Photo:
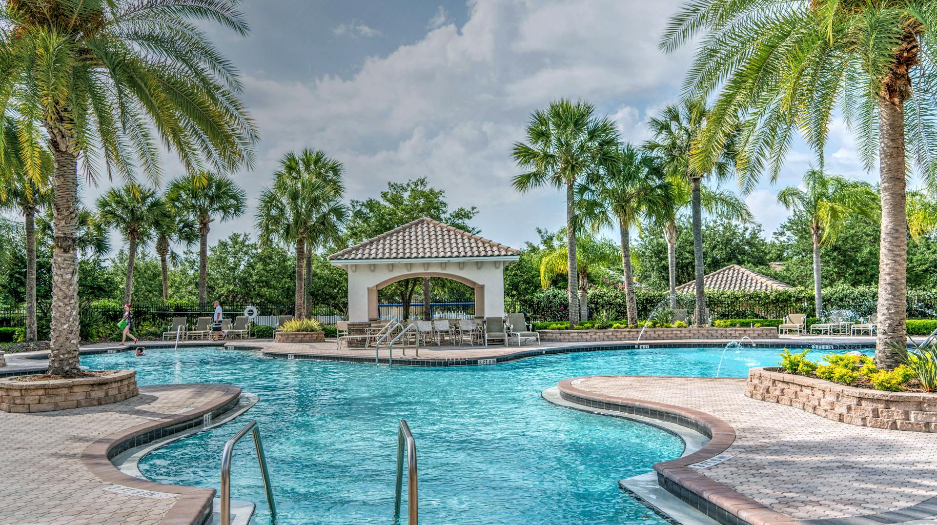
<instances>
[{"instance_id":1,"label":"rippling turquoise water of the swimming pool","mask_svg":"<svg viewBox=\"0 0 937 525\"><path fill-rule=\"evenodd\" d=\"M773 365L778 352L730 350L721 376ZM584 375L711 377L721 353L649 349L387 368L199 348L89 355L82 365L136 368L141 385L231 383L257 394L257 405L230 425L157 450L141 471L163 483L218 488L224 443L256 419L280 525L390 521L400 418L417 443L424 523L665 523L617 481L676 458L682 442L659 428L556 407L540 393ZM231 494L257 503L254 523L272 523L249 442L235 452Z\"/></svg>"}]
</instances>

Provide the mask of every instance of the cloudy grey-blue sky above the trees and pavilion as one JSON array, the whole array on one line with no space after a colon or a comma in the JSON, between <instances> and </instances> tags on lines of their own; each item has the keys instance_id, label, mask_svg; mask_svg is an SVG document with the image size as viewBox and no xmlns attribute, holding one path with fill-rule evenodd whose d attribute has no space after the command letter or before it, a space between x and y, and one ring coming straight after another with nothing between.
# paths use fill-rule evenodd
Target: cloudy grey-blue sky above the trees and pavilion
<instances>
[{"instance_id":1,"label":"cloudy grey-blue sky above the trees and pavilion","mask_svg":"<svg viewBox=\"0 0 937 525\"><path fill-rule=\"evenodd\" d=\"M453 208L478 207L472 224L483 236L523 247L537 227L556 230L565 218L558 190L511 187L520 173L511 149L529 114L581 98L611 116L625 140L647 139L647 118L677 101L692 58L691 47L657 48L680 1L245 0L247 37L206 26L240 69L260 129L256 166L231 174L249 211L213 224L211 241L253 233L254 203L278 158L310 147L344 163L349 199L425 176ZM832 173L876 178L839 122L826 155ZM776 184L746 196L766 236L787 216L777 191L799 184L811 159L796 143ZM164 166L164 180L182 174L168 156ZM85 202L110 185L85 188Z\"/></svg>"}]
</instances>

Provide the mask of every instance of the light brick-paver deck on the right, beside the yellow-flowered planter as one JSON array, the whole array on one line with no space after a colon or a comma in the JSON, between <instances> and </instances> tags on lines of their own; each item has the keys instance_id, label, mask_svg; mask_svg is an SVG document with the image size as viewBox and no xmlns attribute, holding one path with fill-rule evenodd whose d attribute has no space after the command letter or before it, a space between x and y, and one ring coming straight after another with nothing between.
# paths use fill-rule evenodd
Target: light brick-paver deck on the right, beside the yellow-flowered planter
<instances>
[{"instance_id":1,"label":"light brick-paver deck on the right, beside the yellow-flowered planter","mask_svg":"<svg viewBox=\"0 0 937 525\"><path fill-rule=\"evenodd\" d=\"M597 376L573 380L597 399L639 399L708 413L736 431L714 467L699 470L798 521L937 523L937 434L855 427L746 398L745 380ZM901 513L917 505L921 516ZM875 515L875 516L873 516Z\"/></svg>"}]
</instances>

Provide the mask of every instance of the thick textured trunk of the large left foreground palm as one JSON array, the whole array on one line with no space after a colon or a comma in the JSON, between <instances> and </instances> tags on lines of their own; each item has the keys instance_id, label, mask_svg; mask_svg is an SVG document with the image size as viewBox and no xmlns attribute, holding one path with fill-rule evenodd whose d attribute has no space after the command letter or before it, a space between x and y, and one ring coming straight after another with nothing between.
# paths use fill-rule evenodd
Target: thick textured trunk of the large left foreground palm
<instances>
[{"instance_id":1,"label":"thick textured trunk of the large left foreground palm","mask_svg":"<svg viewBox=\"0 0 937 525\"><path fill-rule=\"evenodd\" d=\"M55 199L52 203L52 348L49 373L79 377L77 158L71 153L66 128L47 125L54 161Z\"/></svg>"}]
</instances>

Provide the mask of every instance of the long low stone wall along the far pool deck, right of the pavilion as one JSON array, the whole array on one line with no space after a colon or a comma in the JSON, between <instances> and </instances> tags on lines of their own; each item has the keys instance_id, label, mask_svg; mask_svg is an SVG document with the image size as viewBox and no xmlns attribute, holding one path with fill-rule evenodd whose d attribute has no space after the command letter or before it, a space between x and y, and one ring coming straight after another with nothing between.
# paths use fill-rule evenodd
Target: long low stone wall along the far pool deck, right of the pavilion
<instances>
[{"instance_id":1,"label":"long low stone wall along the far pool deck, right of the pavilion","mask_svg":"<svg viewBox=\"0 0 937 525\"><path fill-rule=\"evenodd\" d=\"M773 326L740 326L733 328L694 327L686 328L647 328L644 335L639 328L621 330L540 330L542 341L655 341L662 339L773 339L778 337L778 329Z\"/></svg>"}]
</instances>

